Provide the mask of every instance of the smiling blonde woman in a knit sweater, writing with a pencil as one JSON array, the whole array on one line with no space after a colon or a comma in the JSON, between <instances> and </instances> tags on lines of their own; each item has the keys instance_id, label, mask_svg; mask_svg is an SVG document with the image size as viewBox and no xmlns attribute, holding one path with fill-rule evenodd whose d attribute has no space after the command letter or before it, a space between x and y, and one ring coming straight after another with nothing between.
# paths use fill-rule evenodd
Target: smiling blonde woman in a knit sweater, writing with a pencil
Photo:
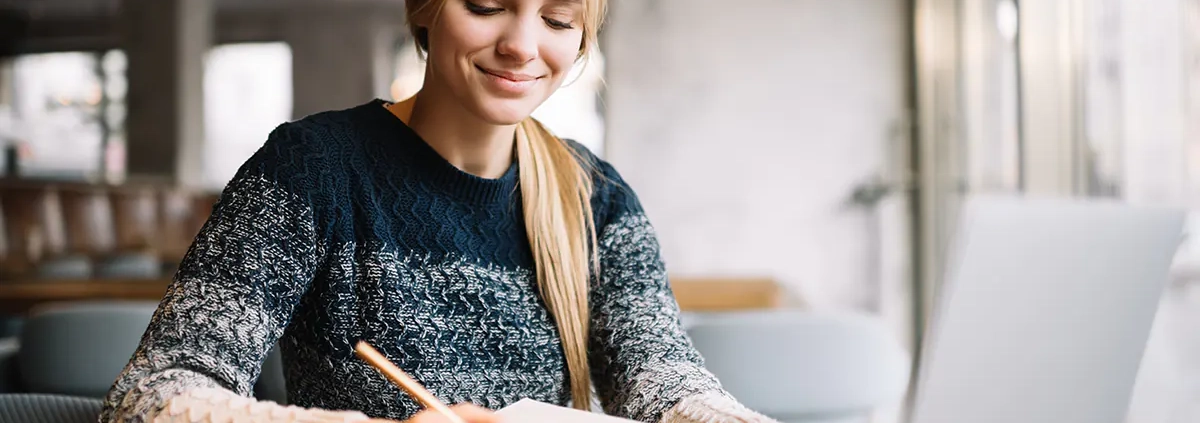
<instances>
[{"instance_id":1,"label":"smiling blonde woman in a knit sweater, writing with a pencil","mask_svg":"<svg viewBox=\"0 0 1200 423\"><path fill-rule=\"evenodd\" d=\"M604 0L409 0L424 88L284 124L226 187L102 421L436 422L366 340L473 423L522 398L643 422L768 422L679 327L606 162L529 118ZM280 344L288 398L248 395Z\"/></svg>"}]
</instances>

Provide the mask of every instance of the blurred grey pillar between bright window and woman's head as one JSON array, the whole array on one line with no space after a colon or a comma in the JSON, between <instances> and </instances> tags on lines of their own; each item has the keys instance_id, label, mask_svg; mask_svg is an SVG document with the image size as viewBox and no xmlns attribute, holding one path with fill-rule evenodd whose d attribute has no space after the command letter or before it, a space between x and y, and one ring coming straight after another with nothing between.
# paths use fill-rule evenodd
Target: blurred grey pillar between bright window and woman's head
<instances>
[{"instance_id":1,"label":"blurred grey pillar between bright window and woman's head","mask_svg":"<svg viewBox=\"0 0 1200 423\"><path fill-rule=\"evenodd\" d=\"M383 97L395 76L403 22L378 10L337 6L314 7L288 23L295 118Z\"/></svg>"}]
</instances>

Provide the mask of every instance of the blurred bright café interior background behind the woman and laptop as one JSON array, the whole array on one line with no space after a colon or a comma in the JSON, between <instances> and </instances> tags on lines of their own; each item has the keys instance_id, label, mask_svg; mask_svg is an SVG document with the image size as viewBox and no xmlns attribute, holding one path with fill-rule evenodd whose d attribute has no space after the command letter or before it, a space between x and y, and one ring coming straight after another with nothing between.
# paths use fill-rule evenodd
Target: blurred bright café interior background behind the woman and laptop
<instances>
[{"instance_id":1,"label":"blurred bright caf\u00e9 interior background behind the woman and laptop","mask_svg":"<svg viewBox=\"0 0 1200 423\"><path fill-rule=\"evenodd\" d=\"M0 0L8 348L52 304L161 297L280 123L415 93L403 7ZM612 0L601 43L535 117L637 190L697 321L862 316L898 347L864 359L911 358L965 196L1200 210L1200 0ZM1195 245L1171 275L1129 422L1200 422ZM899 421L908 358L796 413Z\"/></svg>"}]
</instances>

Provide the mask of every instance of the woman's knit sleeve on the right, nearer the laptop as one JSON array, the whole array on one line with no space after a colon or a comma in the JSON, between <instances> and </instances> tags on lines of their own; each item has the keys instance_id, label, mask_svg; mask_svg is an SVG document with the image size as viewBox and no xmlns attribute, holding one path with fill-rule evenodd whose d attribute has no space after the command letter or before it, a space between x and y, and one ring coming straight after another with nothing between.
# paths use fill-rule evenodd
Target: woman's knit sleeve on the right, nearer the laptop
<instances>
[{"instance_id":1,"label":"woman's knit sleeve on the right, nearer the laptop","mask_svg":"<svg viewBox=\"0 0 1200 423\"><path fill-rule=\"evenodd\" d=\"M659 242L632 190L600 163L600 258L589 294L589 361L605 412L640 422L774 422L734 400L692 346ZM601 192L598 190L598 192Z\"/></svg>"}]
</instances>

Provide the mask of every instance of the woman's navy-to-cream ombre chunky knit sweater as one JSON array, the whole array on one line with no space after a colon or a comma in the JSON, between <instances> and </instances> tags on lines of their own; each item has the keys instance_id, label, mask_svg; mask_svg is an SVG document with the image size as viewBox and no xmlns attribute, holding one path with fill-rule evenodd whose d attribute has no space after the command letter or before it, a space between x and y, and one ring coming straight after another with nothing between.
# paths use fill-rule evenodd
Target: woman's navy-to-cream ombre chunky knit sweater
<instances>
[{"instance_id":1,"label":"woman's navy-to-cream ombre chunky knit sweater","mask_svg":"<svg viewBox=\"0 0 1200 423\"><path fill-rule=\"evenodd\" d=\"M517 165L497 179L463 172L384 106L271 132L187 251L102 422L204 421L188 404L212 403L214 389L248 397L276 342L298 407L391 419L420 410L355 357L359 340L448 404L569 403ZM642 422L766 421L704 370L636 195L571 145L595 169L588 356L604 410Z\"/></svg>"}]
</instances>

